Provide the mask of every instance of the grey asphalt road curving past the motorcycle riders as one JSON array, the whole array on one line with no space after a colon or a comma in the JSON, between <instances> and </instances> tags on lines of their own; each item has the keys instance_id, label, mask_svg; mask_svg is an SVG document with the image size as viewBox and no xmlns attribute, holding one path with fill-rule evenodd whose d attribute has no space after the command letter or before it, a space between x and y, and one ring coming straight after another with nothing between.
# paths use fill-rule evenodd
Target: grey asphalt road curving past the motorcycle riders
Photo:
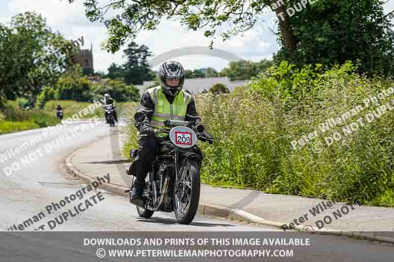
<instances>
[{"instance_id":1,"label":"grey asphalt road curving past the motorcycle riders","mask_svg":"<svg viewBox=\"0 0 394 262\"><path fill-rule=\"evenodd\" d=\"M153 237L166 231L167 236L186 232L193 236L195 232L196 235L215 237L220 232L237 236L248 231L249 236L252 233L263 236L269 232L279 236L281 231L276 229L199 215L188 226L179 225L172 213L159 212L150 219L143 219L138 217L135 206L127 199L102 190L87 189L78 196L76 192L86 189L87 185L67 178L62 163L80 146L107 136L109 132L111 129L103 122L89 124L80 121L54 128L52 132L46 128L0 136L0 229L6 231L15 225L23 230L1 233L0 261L97 261L96 247L83 245L83 238L92 237L92 234ZM108 150L111 150L110 146ZM72 200L71 196L77 198ZM66 203L66 197L69 203ZM38 232L26 232L34 230ZM312 244L299 248L294 258L269 261L393 261L394 245L391 244L298 234L313 237ZM120 258L108 260L125 261ZM168 258L160 260L171 261ZM229 259L205 258L204 261Z\"/></svg>"}]
</instances>

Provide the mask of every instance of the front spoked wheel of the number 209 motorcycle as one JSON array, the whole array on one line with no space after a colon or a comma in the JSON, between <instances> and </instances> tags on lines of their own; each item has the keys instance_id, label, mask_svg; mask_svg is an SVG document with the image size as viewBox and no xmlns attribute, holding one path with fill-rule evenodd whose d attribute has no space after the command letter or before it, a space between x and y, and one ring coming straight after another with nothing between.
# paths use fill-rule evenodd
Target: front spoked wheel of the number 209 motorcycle
<instances>
[{"instance_id":1,"label":"front spoked wheel of the number 209 motorcycle","mask_svg":"<svg viewBox=\"0 0 394 262\"><path fill-rule=\"evenodd\" d=\"M192 223L200 198L200 175L198 164L188 160L180 170L181 183L174 191L174 213L183 225Z\"/></svg>"}]
</instances>

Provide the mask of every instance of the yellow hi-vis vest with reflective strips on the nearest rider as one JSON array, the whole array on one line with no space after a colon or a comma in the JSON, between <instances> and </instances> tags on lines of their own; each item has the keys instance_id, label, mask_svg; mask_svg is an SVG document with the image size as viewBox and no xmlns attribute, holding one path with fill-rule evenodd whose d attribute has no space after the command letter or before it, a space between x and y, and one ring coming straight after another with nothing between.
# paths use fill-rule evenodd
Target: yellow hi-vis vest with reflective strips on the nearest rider
<instances>
[{"instance_id":1,"label":"yellow hi-vis vest with reflective strips on the nearest rider","mask_svg":"<svg viewBox=\"0 0 394 262\"><path fill-rule=\"evenodd\" d=\"M165 98L162 87L153 87L148 89L148 93L155 103L155 111L151 118L150 124L155 127L163 127L164 120L185 120L186 111L188 104L192 100L192 96L181 90L174 98L172 104L170 104ZM160 134L160 137L164 137L166 134Z\"/></svg>"}]
</instances>

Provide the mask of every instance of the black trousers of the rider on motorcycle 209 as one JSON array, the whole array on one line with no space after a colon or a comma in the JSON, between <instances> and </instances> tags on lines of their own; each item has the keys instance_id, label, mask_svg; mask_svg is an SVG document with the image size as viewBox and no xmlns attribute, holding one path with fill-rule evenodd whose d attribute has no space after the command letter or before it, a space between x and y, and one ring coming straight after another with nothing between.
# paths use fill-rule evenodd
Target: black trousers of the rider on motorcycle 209
<instances>
[{"instance_id":1,"label":"black trousers of the rider on motorcycle 209","mask_svg":"<svg viewBox=\"0 0 394 262\"><path fill-rule=\"evenodd\" d=\"M132 163L132 170L138 182L145 181L159 150L160 144L157 137L141 137L139 139L138 153ZM202 160L201 150L197 146L194 146L193 150Z\"/></svg>"}]
</instances>

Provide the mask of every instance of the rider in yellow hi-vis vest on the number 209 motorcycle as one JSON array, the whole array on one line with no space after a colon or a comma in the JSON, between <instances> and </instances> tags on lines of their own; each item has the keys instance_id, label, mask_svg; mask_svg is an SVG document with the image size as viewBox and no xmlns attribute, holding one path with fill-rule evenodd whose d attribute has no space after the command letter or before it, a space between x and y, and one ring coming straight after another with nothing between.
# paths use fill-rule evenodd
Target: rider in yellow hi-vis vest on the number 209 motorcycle
<instances>
[{"instance_id":1,"label":"rider in yellow hi-vis vest on the number 209 motorcycle","mask_svg":"<svg viewBox=\"0 0 394 262\"><path fill-rule=\"evenodd\" d=\"M139 148L137 156L131 165L131 174L136 177L131 193L130 201L132 204L144 206L143 188L145 177L150 171L153 161L159 150L159 139L155 136L155 131L151 127L164 126L165 119L195 121L195 128L201 125L201 118L197 114L195 100L183 90L185 82L185 70L183 66L174 60L168 60L162 63L158 71L160 86L145 90L141 96L140 107L137 110L145 115L141 122L134 120L134 126L141 136L139 139ZM149 126L151 125L151 126ZM159 134L164 138L166 134ZM195 146L195 152L200 155L201 150ZM201 163L201 161L200 161Z\"/></svg>"}]
</instances>

